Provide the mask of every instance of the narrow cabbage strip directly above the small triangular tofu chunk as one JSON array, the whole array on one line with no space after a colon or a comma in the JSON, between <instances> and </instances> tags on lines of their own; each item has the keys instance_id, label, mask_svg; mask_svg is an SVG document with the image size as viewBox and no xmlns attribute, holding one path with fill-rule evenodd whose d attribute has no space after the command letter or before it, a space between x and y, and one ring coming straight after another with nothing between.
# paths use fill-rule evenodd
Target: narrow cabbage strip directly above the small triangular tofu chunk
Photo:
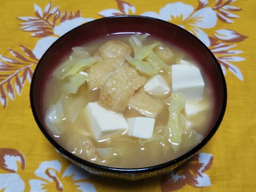
<instances>
[{"instance_id":1,"label":"narrow cabbage strip directly above the small triangular tofu chunk","mask_svg":"<svg viewBox=\"0 0 256 192\"><path fill-rule=\"evenodd\" d=\"M159 70L155 70L148 62L141 61L139 59L132 58L131 55L126 55L125 59L137 70L140 71L140 73L154 76L158 74Z\"/></svg>"}]
</instances>

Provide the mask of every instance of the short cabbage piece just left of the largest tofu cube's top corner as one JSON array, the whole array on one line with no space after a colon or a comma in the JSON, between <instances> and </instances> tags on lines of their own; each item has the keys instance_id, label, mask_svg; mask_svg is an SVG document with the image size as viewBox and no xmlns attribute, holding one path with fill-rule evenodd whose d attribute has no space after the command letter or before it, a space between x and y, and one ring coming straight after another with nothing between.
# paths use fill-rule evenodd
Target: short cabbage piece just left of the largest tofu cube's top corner
<instances>
[{"instance_id":1,"label":"short cabbage piece just left of the largest tofu cube's top corner","mask_svg":"<svg viewBox=\"0 0 256 192\"><path fill-rule=\"evenodd\" d=\"M148 56L145 58L147 62L150 63L150 65L155 69L155 70L167 70L170 68L162 59L160 59L156 53L151 51Z\"/></svg>"}]
</instances>

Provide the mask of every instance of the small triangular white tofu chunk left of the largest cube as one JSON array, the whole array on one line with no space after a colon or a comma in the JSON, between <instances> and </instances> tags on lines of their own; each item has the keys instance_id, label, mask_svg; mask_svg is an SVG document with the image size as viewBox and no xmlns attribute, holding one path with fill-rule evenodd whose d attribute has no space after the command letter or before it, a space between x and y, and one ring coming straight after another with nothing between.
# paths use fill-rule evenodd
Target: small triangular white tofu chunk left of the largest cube
<instances>
[{"instance_id":1,"label":"small triangular white tofu chunk left of the largest cube","mask_svg":"<svg viewBox=\"0 0 256 192\"><path fill-rule=\"evenodd\" d=\"M166 94L171 91L169 85L165 82L161 75L149 79L144 86L144 91L149 94Z\"/></svg>"}]
</instances>

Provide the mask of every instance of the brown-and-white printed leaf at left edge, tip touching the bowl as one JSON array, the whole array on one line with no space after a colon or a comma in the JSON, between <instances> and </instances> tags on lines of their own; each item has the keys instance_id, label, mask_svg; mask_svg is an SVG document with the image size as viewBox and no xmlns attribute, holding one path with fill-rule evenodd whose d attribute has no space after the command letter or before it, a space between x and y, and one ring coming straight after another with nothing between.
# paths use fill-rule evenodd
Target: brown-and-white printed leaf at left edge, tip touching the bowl
<instances>
[{"instance_id":1,"label":"brown-and-white printed leaf at left edge, tip touching the bowl","mask_svg":"<svg viewBox=\"0 0 256 192\"><path fill-rule=\"evenodd\" d=\"M19 45L22 53L9 49L15 59L0 55L0 101L5 108L8 97L15 99L15 91L21 94L26 79L31 81L33 71L31 66L38 59L27 47Z\"/></svg>"}]
</instances>

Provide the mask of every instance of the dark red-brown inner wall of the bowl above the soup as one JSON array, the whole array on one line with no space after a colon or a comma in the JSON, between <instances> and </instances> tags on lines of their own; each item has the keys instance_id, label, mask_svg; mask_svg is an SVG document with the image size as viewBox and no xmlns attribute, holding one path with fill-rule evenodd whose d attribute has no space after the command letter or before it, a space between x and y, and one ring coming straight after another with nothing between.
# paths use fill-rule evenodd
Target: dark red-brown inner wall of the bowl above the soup
<instances>
[{"instance_id":1,"label":"dark red-brown inner wall of the bowl above the soup","mask_svg":"<svg viewBox=\"0 0 256 192\"><path fill-rule=\"evenodd\" d=\"M181 47L198 61L199 65L210 79L210 83L213 87L214 98L217 101L215 102L213 115L214 117L210 126L212 127L212 129L209 130L209 134L206 136L204 141L202 141L197 147L195 147L182 157L179 157L178 159L174 159L174 161L162 165L168 166L178 161L181 161L183 158L190 156L191 154L202 148L218 129L218 126L222 120L226 108L226 83L219 63L214 58L210 50L207 49L207 47L201 41L199 41L195 36L188 33L186 30L162 20L139 16L119 16L103 18L89 23L85 23L84 25L69 31L69 33L59 38L57 42L55 42L46 51L42 59L38 62L37 68L33 76L33 80L31 82L30 102L36 122L46 138L49 139L50 142L57 149L64 152L67 156L75 158L82 163L93 165L93 163L83 161L82 159L68 153L68 151L61 148L58 143L56 143L45 131L42 105L44 86L46 79L52 72L53 68L55 68L59 64L59 61L70 52L71 47L78 46L86 42L90 42L93 39L105 37L110 34L122 33L149 34ZM156 166L155 169L157 169Z\"/></svg>"}]
</instances>

